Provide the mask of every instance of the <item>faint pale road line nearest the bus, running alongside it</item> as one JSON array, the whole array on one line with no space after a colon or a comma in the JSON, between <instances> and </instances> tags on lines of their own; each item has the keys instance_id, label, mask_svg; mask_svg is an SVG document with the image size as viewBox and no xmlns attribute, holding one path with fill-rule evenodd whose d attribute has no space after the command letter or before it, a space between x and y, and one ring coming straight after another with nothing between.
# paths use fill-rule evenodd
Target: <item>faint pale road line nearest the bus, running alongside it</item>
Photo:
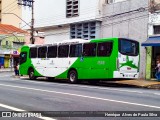
<instances>
[{"instance_id":1,"label":"faint pale road line nearest the bus, running alongside it","mask_svg":"<svg viewBox=\"0 0 160 120\"><path fill-rule=\"evenodd\" d=\"M47 85L51 85L48 83L44 83L44 82L40 82L40 81L26 81L26 82L32 82L32 83L43 83L43 84L47 84ZM74 86L74 87L81 87L81 88L92 88L92 89L99 89L99 90L114 90L114 91L119 91L119 92L129 92L129 93L139 93L139 94L143 94L143 92L140 91L131 91L131 90L121 90L121 89L115 89L115 88L104 88L104 87L93 87L93 86L85 86L85 85L68 85L68 84L58 84L58 83L52 83L55 85L59 85L59 86Z\"/></svg>"}]
</instances>

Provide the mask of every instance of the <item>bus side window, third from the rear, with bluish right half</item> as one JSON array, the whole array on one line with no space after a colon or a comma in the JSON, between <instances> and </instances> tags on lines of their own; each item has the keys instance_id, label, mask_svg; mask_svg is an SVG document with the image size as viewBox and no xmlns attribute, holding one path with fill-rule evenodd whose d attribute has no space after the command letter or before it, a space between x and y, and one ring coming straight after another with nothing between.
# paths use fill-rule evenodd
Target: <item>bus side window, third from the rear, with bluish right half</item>
<instances>
[{"instance_id":1,"label":"bus side window, third from the rear, with bluish right half","mask_svg":"<svg viewBox=\"0 0 160 120\"><path fill-rule=\"evenodd\" d=\"M82 44L70 45L69 57L80 57L82 55Z\"/></svg>"}]
</instances>

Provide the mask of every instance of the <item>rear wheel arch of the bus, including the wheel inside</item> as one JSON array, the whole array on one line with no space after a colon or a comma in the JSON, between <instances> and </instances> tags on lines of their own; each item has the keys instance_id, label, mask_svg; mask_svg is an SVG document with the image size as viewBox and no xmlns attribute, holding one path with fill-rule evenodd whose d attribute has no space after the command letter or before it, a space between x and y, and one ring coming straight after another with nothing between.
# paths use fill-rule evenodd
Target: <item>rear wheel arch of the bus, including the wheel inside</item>
<instances>
[{"instance_id":1,"label":"rear wheel arch of the bus, including the wheel inside","mask_svg":"<svg viewBox=\"0 0 160 120\"><path fill-rule=\"evenodd\" d=\"M77 83L78 82L78 73L77 70L74 68L71 68L68 71L68 79L70 83Z\"/></svg>"}]
</instances>

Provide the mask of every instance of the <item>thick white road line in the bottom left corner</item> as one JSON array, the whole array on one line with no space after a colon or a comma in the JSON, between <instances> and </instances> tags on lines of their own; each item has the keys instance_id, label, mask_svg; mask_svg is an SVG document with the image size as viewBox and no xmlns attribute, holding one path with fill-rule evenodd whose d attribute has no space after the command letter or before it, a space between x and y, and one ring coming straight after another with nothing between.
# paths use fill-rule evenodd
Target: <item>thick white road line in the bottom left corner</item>
<instances>
[{"instance_id":1,"label":"thick white road line in the bottom left corner","mask_svg":"<svg viewBox=\"0 0 160 120\"><path fill-rule=\"evenodd\" d=\"M26 110L19 109L19 108L16 108L16 107L12 107L12 106L8 106L8 105L2 104L2 103L0 103L0 107L6 108L6 109L9 109L9 110L13 110L13 111L18 111L18 112L25 112L26 111ZM42 120L56 120L56 119L53 119L53 118L50 118L50 117L37 117L37 118L42 119Z\"/></svg>"}]
</instances>

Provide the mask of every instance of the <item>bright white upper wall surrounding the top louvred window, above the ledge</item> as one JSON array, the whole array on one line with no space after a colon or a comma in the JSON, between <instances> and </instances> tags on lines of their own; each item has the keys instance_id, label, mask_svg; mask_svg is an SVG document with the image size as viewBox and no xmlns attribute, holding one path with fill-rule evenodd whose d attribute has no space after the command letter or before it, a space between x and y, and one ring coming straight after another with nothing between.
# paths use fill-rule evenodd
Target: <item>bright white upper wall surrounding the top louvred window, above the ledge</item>
<instances>
[{"instance_id":1,"label":"bright white upper wall surrounding the top louvred window, above the ledge","mask_svg":"<svg viewBox=\"0 0 160 120\"><path fill-rule=\"evenodd\" d=\"M104 0L79 0L79 16L66 18L66 0L35 1L35 27L70 24L96 19L101 15L103 2ZM26 22L30 22L31 10L28 8L23 9L22 17Z\"/></svg>"}]
</instances>

